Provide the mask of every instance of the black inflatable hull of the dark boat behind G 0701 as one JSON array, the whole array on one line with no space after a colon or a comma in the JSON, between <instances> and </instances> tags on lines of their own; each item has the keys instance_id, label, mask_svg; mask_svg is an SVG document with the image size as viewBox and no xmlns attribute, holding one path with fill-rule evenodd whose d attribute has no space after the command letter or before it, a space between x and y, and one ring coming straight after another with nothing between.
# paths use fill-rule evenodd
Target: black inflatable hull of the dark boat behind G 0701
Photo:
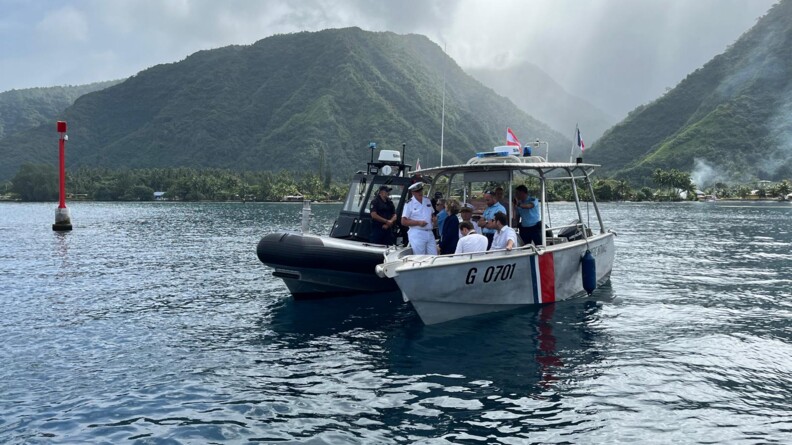
<instances>
[{"instance_id":1,"label":"black inflatable hull of the dark boat behind G 0701","mask_svg":"<svg viewBox=\"0 0 792 445\"><path fill-rule=\"evenodd\" d=\"M259 241L256 254L295 298L309 299L397 290L395 281L374 271L386 250L359 241L277 232Z\"/></svg>"}]
</instances>

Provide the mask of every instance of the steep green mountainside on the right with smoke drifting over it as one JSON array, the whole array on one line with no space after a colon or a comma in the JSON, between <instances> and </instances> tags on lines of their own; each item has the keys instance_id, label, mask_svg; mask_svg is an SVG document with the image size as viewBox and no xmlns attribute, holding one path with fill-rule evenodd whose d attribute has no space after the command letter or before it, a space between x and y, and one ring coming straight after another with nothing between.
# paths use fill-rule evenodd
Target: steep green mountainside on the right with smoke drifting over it
<instances>
[{"instance_id":1,"label":"steep green mountainside on the right with smoke drifting over it","mask_svg":"<svg viewBox=\"0 0 792 445\"><path fill-rule=\"evenodd\" d=\"M723 54L632 111L586 160L638 182L656 168L694 176L708 168L723 182L792 177L792 1L774 5Z\"/></svg>"}]
</instances>

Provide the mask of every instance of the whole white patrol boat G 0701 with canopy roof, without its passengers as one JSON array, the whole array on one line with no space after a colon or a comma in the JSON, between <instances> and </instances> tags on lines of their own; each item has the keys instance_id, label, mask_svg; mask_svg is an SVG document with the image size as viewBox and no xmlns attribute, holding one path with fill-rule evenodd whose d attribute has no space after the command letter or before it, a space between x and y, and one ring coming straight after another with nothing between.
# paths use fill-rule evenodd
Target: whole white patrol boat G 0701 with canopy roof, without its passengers
<instances>
[{"instance_id":1,"label":"whole white patrol boat G 0701 with canopy roof, without its passengers","mask_svg":"<svg viewBox=\"0 0 792 445\"><path fill-rule=\"evenodd\" d=\"M496 147L479 153L464 165L421 171L433 178L433 191L444 192L480 211L486 206L479 192L503 187L509 211L514 186L527 183L540 198L545 230L540 245L521 244L511 251L465 254L412 255L407 249L390 249L377 275L393 278L405 300L412 303L425 324L504 311L528 305L554 303L590 294L610 279L614 236L605 228L594 200L590 174L598 165L546 162L539 156L523 157L519 147ZM547 195L550 181L571 187L578 220L548 227ZM597 227L582 223L580 187L590 195ZM509 215L511 221L512 215ZM553 233L556 236L552 236Z\"/></svg>"}]
</instances>

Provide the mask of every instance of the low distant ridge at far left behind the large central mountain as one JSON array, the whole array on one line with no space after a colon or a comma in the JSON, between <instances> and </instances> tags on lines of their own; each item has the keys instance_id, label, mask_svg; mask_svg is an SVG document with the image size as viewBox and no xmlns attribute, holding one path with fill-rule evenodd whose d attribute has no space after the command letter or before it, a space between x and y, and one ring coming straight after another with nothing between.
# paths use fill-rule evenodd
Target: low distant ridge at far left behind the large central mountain
<instances>
[{"instance_id":1,"label":"low distant ridge at far left behind the large central mountain","mask_svg":"<svg viewBox=\"0 0 792 445\"><path fill-rule=\"evenodd\" d=\"M27 88L0 93L0 139L42 124L49 123L52 126L66 107L73 104L78 97L119 82L121 81L111 80L88 85Z\"/></svg>"}]
</instances>

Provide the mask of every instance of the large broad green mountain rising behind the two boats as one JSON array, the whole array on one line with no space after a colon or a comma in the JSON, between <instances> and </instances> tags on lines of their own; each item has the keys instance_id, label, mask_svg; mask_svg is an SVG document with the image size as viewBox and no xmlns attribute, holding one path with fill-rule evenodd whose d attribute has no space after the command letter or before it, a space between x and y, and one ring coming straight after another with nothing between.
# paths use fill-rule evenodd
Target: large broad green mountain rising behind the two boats
<instances>
[{"instance_id":1,"label":"large broad green mountain rising behind the two boats","mask_svg":"<svg viewBox=\"0 0 792 445\"><path fill-rule=\"evenodd\" d=\"M358 28L277 35L199 51L86 94L69 107L70 166L307 170L362 168L369 141L407 144L406 161L439 164L505 142L569 146L467 75L429 39ZM0 179L26 162L54 162L53 124L0 140Z\"/></svg>"}]
</instances>

